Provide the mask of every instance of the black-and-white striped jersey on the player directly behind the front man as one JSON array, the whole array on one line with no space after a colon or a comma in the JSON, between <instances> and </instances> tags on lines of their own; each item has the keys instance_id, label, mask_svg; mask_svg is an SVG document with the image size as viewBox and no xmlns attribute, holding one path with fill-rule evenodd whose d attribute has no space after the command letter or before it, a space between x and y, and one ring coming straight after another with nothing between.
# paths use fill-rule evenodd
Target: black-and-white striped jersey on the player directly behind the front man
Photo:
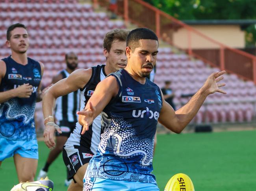
<instances>
[{"instance_id":1,"label":"black-and-white striped jersey on the player directly behind the front man","mask_svg":"<svg viewBox=\"0 0 256 191\"><path fill-rule=\"evenodd\" d=\"M90 80L82 89L80 89L80 111L84 109L89 98L93 95L96 85L106 77L104 67L105 65L97 65L92 67L92 75ZM89 130L85 131L83 135L81 135L81 132L82 126L77 122L76 128L70 134L70 137L65 145L83 146L95 154L100 142L100 134L103 132L101 129L101 116L98 115L93 120L93 124L89 126Z\"/></svg>"}]
</instances>

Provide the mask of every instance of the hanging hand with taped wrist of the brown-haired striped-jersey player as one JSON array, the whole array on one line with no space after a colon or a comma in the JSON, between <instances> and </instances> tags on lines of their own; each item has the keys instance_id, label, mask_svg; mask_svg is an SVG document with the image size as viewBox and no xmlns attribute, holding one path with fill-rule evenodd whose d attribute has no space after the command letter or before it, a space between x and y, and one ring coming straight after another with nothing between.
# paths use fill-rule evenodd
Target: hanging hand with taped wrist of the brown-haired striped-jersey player
<instances>
[{"instance_id":1,"label":"hanging hand with taped wrist of the brown-haired striped-jersey player","mask_svg":"<svg viewBox=\"0 0 256 191\"><path fill-rule=\"evenodd\" d=\"M59 126L57 126L54 122L49 122L51 124L45 125L45 131L44 131L44 140L45 144L49 149L53 149L55 147L55 141L54 141L54 133L55 131L58 131L58 133L62 133Z\"/></svg>"}]
</instances>

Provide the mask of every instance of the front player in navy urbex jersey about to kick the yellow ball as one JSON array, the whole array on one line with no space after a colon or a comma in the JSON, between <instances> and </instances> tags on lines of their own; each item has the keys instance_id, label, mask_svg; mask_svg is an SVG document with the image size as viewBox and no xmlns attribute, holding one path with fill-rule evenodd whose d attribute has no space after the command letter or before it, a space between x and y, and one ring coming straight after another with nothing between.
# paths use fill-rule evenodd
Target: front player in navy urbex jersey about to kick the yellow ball
<instances>
[{"instance_id":1,"label":"front player in navy urbex jersey about to kick the yellow ball","mask_svg":"<svg viewBox=\"0 0 256 191\"><path fill-rule=\"evenodd\" d=\"M146 28L134 29L127 36L126 46L125 69L102 80L85 109L78 112L82 134L100 113L105 127L87 168L83 191L158 191L152 175L157 122L180 133L208 95L225 93L219 89L225 84L217 84L225 71L212 73L193 98L175 112L163 99L160 88L146 78L156 64L156 34Z\"/></svg>"}]
</instances>

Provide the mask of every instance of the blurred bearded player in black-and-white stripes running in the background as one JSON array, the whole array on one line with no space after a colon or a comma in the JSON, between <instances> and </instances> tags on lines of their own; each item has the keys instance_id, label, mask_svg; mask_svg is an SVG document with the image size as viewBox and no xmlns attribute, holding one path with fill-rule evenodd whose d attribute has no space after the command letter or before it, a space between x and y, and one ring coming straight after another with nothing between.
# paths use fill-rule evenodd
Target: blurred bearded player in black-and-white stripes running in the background
<instances>
[{"instance_id":1,"label":"blurred bearded player in black-and-white stripes running in the background","mask_svg":"<svg viewBox=\"0 0 256 191\"><path fill-rule=\"evenodd\" d=\"M66 69L59 71L59 73L53 77L52 84L55 84L59 80L67 78L78 65L78 57L75 53L70 52L65 55L65 62L67 64ZM77 91L71 92L68 95L58 97L56 100L56 108L54 118L56 124L60 127L62 133L56 132L56 147L52 149L48 155L45 166L39 172L37 180L45 178L47 176L48 168L54 162L54 160L62 152L63 146L70 136L70 133L76 127L77 115L76 112L79 109L79 98L80 95ZM70 180L65 180L65 185L69 186Z\"/></svg>"}]
</instances>

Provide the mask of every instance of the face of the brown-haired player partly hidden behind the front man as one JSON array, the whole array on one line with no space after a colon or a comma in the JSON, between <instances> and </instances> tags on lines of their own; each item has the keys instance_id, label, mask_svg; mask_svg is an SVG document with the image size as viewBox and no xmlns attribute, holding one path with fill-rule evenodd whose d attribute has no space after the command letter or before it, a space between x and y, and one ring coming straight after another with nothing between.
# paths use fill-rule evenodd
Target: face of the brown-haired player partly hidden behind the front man
<instances>
[{"instance_id":1,"label":"face of the brown-haired player partly hidden behind the front man","mask_svg":"<svg viewBox=\"0 0 256 191\"><path fill-rule=\"evenodd\" d=\"M114 40L114 42L111 44L111 49L109 52L104 49L104 55L107 58L107 64L109 67L111 67L112 72L126 67L127 58L125 49L126 42L119 40Z\"/></svg>"}]
</instances>

